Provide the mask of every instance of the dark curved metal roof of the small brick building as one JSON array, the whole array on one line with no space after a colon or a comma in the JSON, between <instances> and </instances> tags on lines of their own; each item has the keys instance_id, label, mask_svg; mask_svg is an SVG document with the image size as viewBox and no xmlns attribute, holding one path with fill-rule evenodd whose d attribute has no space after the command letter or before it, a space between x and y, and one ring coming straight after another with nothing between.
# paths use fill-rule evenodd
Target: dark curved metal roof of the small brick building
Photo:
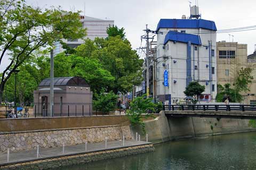
<instances>
[{"instance_id":1,"label":"dark curved metal roof of the small brick building","mask_svg":"<svg viewBox=\"0 0 256 170\"><path fill-rule=\"evenodd\" d=\"M81 77L54 78L54 86L85 86L89 84ZM44 79L38 86L50 86L50 78Z\"/></svg>"}]
</instances>

